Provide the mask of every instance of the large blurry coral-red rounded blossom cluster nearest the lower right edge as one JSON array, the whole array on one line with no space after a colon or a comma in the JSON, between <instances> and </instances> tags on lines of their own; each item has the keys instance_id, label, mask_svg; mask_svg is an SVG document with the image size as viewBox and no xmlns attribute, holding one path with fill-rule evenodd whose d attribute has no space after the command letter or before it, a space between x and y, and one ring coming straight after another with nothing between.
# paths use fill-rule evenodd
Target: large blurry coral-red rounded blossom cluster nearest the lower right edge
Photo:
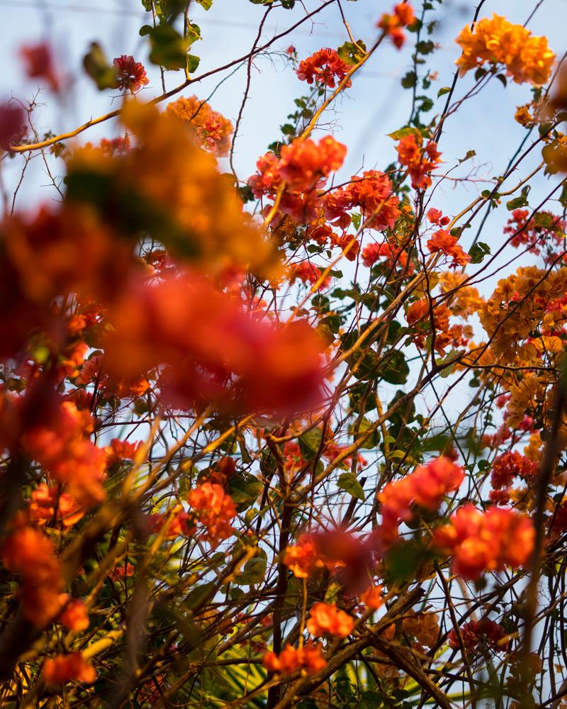
<instances>
[{"instance_id":1,"label":"large blurry coral-red rounded blossom cluster nearest the lower right edge","mask_svg":"<svg viewBox=\"0 0 567 709\"><path fill-rule=\"evenodd\" d=\"M451 569L466 581L484 571L518 569L534 548L532 520L514 510L490 507L486 512L471 504L459 508L448 525L435 531L433 543L453 555Z\"/></svg>"}]
</instances>

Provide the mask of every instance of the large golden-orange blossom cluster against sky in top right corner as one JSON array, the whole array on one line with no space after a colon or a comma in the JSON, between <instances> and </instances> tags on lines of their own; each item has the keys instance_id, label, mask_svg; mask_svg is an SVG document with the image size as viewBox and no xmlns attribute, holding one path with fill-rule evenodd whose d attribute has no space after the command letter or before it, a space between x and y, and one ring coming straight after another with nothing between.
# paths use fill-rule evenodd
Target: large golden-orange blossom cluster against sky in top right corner
<instances>
[{"instance_id":1,"label":"large golden-orange blossom cluster against sky in top right corner","mask_svg":"<svg viewBox=\"0 0 567 709\"><path fill-rule=\"evenodd\" d=\"M456 65L461 76L485 63L504 65L517 84L545 84L554 65L555 55L545 37L535 37L522 25L515 25L493 14L466 26L456 43L463 53Z\"/></svg>"}]
</instances>

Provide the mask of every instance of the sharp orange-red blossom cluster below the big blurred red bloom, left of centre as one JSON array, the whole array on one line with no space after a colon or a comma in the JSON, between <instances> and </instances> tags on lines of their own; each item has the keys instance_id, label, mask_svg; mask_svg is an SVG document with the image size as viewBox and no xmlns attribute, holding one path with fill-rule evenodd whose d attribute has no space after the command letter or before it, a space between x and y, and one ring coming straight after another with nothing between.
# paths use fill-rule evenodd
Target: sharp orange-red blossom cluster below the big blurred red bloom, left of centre
<instances>
[{"instance_id":1,"label":"sharp orange-red blossom cluster below the big blurred red bloom, left of centre","mask_svg":"<svg viewBox=\"0 0 567 709\"><path fill-rule=\"evenodd\" d=\"M189 506L198 522L205 527L202 535L213 549L234 533L230 524L236 515L236 506L228 493L215 483L203 483L189 492Z\"/></svg>"}]
</instances>

